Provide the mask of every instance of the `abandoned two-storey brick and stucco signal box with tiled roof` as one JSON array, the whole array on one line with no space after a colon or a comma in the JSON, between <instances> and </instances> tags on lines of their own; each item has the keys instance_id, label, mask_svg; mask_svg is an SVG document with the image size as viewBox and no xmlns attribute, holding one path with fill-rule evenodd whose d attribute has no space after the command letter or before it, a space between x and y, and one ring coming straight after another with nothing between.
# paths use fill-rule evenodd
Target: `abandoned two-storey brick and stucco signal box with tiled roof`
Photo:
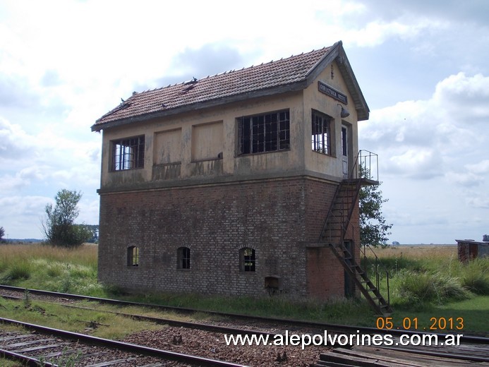
<instances>
[{"instance_id":1,"label":"abandoned two-storey brick and stucco signal box with tiled roof","mask_svg":"<svg viewBox=\"0 0 489 367\"><path fill-rule=\"evenodd\" d=\"M103 131L99 280L133 290L354 294L330 244L358 245L358 202L336 239L325 239L325 221L357 170L357 122L368 114L342 42L133 92L92 126Z\"/></svg>"}]
</instances>

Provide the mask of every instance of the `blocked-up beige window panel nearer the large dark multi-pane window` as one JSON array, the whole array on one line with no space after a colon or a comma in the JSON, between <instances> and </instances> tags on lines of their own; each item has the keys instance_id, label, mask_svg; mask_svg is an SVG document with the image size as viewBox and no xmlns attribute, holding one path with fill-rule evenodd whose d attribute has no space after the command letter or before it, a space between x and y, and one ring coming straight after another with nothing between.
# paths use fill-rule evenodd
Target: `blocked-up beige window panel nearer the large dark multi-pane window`
<instances>
[{"instance_id":1,"label":"blocked-up beige window panel nearer the large dark multi-pane window","mask_svg":"<svg viewBox=\"0 0 489 367\"><path fill-rule=\"evenodd\" d=\"M192 127L192 160L222 158L222 121Z\"/></svg>"}]
</instances>

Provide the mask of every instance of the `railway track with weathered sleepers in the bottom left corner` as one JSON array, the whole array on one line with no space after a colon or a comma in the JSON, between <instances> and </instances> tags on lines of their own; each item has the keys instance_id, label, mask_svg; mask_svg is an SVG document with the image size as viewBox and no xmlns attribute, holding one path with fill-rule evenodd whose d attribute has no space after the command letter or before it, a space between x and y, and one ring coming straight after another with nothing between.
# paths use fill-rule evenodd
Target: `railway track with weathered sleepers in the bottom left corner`
<instances>
[{"instance_id":1,"label":"railway track with weathered sleepers in the bottom left corner","mask_svg":"<svg viewBox=\"0 0 489 367\"><path fill-rule=\"evenodd\" d=\"M2 332L0 336L0 355L27 366L168 366L164 361L195 366L241 366L237 363L92 337L18 320L0 318L0 322L35 332Z\"/></svg>"}]
</instances>

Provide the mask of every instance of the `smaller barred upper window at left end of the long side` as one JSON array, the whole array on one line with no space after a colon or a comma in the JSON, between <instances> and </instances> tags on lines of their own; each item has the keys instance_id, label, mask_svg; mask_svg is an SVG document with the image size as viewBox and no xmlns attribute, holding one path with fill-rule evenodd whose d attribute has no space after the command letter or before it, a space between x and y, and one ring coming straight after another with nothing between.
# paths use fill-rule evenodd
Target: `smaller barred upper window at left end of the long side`
<instances>
[{"instance_id":1,"label":"smaller barred upper window at left end of the long side","mask_svg":"<svg viewBox=\"0 0 489 367\"><path fill-rule=\"evenodd\" d=\"M143 168L144 163L144 135L112 141L112 171Z\"/></svg>"}]
</instances>

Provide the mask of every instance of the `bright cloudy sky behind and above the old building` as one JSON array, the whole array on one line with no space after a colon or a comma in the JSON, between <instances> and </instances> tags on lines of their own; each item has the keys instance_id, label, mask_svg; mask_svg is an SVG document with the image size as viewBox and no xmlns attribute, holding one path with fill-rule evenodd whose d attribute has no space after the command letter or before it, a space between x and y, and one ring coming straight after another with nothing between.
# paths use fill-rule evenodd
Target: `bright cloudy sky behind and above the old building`
<instances>
[{"instance_id":1,"label":"bright cloudy sky behind and above the old building","mask_svg":"<svg viewBox=\"0 0 489 367\"><path fill-rule=\"evenodd\" d=\"M0 0L0 227L42 238L80 191L98 224L102 136L121 98L342 40L370 108L390 242L489 234L489 1Z\"/></svg>"}]
</instances>

